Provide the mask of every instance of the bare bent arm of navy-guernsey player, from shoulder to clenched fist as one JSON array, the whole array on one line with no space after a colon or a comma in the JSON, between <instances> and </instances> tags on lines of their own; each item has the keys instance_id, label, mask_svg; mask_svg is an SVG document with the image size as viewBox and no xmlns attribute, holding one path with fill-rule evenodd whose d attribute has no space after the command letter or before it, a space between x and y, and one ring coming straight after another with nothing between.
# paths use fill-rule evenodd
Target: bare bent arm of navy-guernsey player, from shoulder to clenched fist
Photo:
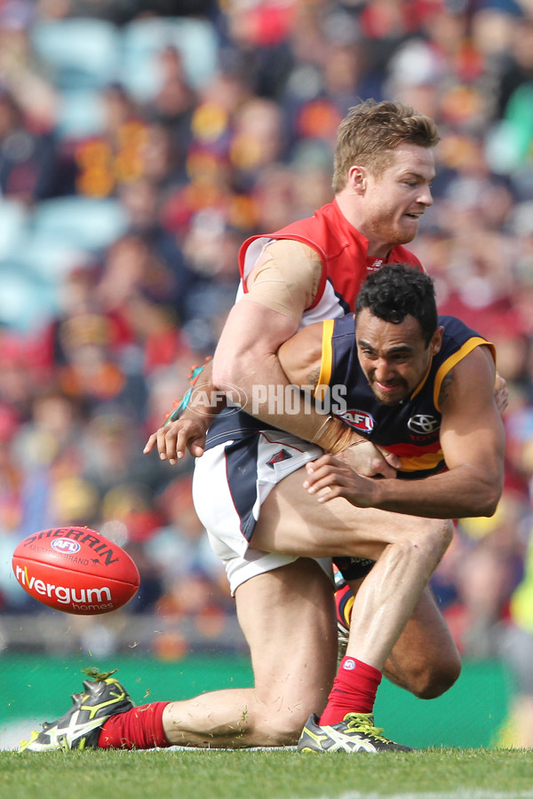
<instances>
[{"instance_id":1,"label":"bare bent arm of navy-guernsey player, from shoulder to clenched fist","mask_svg":"<svg viewBox=\"0 0 533 799\"><path fill-rule=\"evenodd\" d=\"M457 363L442 386L441 445L449 471L421 480L370 480L323 455L307 466L307 491L318 494L319 502L344 496L358 507L412 516L491 516L503 488L505 431L494 395L495 368L483 349Z\"/></svg>"}]
</instances>

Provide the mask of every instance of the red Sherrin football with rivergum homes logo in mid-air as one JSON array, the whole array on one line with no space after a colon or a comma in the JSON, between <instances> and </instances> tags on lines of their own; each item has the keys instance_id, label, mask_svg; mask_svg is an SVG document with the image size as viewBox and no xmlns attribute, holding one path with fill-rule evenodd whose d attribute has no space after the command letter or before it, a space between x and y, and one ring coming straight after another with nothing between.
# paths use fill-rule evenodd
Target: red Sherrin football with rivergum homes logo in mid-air
<instances>
[{"instance_id":1,"label":"red Sherrin football with rivergum homes logo in mid-air","mask_svg":"<svg viewBox=\"0 0 533 799\"><path fill-rule=\"evenodd\" d=\"M139 588L139 571L128 553L88 527L28 535L13 552L12 566L30 597L64 613L110 613Z\"/></svg>"}]
</instances>

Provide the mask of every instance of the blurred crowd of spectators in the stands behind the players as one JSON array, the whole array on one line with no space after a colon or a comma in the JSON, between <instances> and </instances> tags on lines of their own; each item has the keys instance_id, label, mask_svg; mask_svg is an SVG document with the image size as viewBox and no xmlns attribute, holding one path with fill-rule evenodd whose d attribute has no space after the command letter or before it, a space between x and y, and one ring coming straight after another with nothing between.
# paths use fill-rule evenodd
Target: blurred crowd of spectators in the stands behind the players
<instances>
[{"instance_id":1,"label":"blurred crowd of spectators in the stands behind the players","mask_svg":"<svg viewBox=\"0 0 533 799\"><path fill-rule=\"evenodd\" d=\"M192 462L142 449L240 244L330 202L368 97L439 125L411 249L508 383L500 507L459 521L434 589L465 656L510 663L533 746L533 0L0 0L0 611L46 613L10 574L22 537L91 526L139 566L131 629L171 621L151 652L187 652L183 621L228 640Z\"/></svg>"}]
</instances>

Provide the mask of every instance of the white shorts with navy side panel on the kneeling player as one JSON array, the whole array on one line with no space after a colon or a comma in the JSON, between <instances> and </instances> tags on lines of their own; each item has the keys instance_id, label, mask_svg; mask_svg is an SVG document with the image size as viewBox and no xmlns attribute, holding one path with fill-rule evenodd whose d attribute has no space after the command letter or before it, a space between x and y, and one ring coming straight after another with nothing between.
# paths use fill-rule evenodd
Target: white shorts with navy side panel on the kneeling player
<instances>
[{"instance_id":1,"label":"white shorts with navy side panel on the kneeling player","mask_svg":"<svg viewBox=\"0 0 533 799\"><path fill-rule=\"evenodd\" d=\"M195 461L195 510L226 567L232 595L251 577L298 560L254 549L251 536L261 504L276 483L320 455L320 447L297 436L265 430L218 444ZM316 561L332 581L331 558Z\"/></svg>"}]
</instances>

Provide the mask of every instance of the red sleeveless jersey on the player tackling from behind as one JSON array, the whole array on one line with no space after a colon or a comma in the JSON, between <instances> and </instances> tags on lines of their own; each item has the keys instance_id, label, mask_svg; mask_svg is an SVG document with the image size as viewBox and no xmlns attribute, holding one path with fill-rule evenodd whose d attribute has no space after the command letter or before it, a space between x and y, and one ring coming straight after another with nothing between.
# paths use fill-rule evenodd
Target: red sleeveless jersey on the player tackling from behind
<instances>
[{"instance_id":1,"label":"red sleeveless jersey on the player tackling from behind","mask_svg":"<svg viewBox=\"0 0 533 799\"><path fill-rule=\"evenodd\" d=\"M303 314L302 325L335 319L353 312L355 299L367 274L383 264L410 264L421 270L418 258L409 249L397 246L386 258L368 256L369 242L351 225L333 201L275 233L251 236L239 253L242 291L262 249L275 239L293 239L313 248L322 261L322 277L314 303Z\"/></svg>"}]
</instances>

